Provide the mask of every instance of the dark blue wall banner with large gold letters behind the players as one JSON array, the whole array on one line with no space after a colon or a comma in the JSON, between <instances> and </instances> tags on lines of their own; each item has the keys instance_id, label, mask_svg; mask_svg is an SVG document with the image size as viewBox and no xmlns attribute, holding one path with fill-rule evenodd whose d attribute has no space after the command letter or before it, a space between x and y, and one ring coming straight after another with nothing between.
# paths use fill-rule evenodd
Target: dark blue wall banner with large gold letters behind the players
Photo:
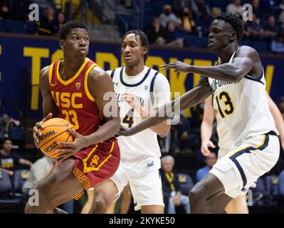
<instances>
[{"instance_id":1,"label":"dark blue wall banner with large gold letters behind the players","mask_svg":"<svg viewBox=\"0 0 284 228\"><path fill-rule=\"evenodd\" d=\"M0 34L0 114L4 111L17 117L24 110L26 117L41 118L41 94L38 87L41 68L63 58L57 38ZM88 58L105 71L123 65L119 44L90 43ZM214 53L198 49L150 48L147 66L167 76L172 92L185 93L195 86L200 76L192 73L167 73L160 67L174 61L197 66L216 64ZM261 56L266 89L273 100L284 95L284 56ZM186 110L189 117L189 110Z\"/></svg>"}]
</instances>

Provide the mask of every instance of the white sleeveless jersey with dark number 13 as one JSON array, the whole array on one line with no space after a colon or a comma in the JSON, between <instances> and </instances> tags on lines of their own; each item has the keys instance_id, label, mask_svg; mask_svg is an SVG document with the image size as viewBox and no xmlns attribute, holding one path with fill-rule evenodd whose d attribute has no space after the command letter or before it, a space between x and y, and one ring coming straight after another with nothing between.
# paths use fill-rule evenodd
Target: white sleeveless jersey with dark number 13
<instances>
[{"instance_id":1,"label":"white sleeveless jersey with dark number 13","mask_svg":"<svg viewBox=\"0 0 284 228\"><path fill-rule=\"evenodd\" d=\"M233 60L236 51L231 56ZM219 112L225 130L234 142L278 131L268 108L263 74L258 78L245 76L238 83L209 78L213 90L213 106ZM220 121L219 121L220 122ZM225 128L226 126L226 128Z\"/></svg>"}]
</instances>

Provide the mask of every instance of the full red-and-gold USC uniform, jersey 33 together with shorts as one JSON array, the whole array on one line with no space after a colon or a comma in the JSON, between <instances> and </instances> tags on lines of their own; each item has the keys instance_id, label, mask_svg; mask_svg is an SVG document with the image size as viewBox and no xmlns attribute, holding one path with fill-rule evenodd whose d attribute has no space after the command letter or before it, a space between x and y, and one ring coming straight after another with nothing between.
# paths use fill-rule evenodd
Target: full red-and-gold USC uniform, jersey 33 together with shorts
<instances>
[{"instance_id":1,"label":"full red-and-gold USC uniform, jersey 33 together with shorts","mask_svg":"<svg viewBox=\"0 0 284 228\"><path fill-rule=\"evenodd\" d=\"M98 130L102 117L95 104L95 99L88 90L88 74L97 66L89 58L77 73L68 81L59 75L61 61L52 63L48 80L51 95L57 106L58 117L74 125L76 132L90 135ZM116 138L110 138L96 145L83 148L75 155L73 174L80 180L85 190L109 179L114 175L120 163L120 150ZM75 195L78 199L80 194Z\"/></svg>"}]
</instances>

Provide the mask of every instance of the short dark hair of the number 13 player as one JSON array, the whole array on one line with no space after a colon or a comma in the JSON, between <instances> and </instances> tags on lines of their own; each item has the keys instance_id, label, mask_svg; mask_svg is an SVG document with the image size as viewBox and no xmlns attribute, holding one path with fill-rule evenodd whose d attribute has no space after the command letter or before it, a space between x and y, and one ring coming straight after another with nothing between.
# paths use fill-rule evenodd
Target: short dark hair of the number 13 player
<instances>
[{"instance_id":1,"label":"short dark hair of the number 13 player","mask_svg":"<svg viewBox=\"0 0 284 228\"><path fill-rule=\"evenodd\" d=\"M226 21L228 24L233 26L233 29L236 31L236 36L238 41L243 38L243 33L245 28L243 26L243 20L241 19L241 14L233 14L231 12L222 13L219 16L216 16L215 19Z\"/></svg>"}]
</instances>

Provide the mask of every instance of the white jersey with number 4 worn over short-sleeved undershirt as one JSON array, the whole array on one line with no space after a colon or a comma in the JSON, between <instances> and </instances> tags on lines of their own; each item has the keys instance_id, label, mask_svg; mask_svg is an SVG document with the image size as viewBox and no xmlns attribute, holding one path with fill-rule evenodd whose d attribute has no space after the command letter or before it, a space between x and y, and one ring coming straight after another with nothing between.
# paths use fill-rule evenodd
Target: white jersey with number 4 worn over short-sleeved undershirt
<instances>
[{"instance_id":1,"label":"white jersey with number 4 worn over short-sleeved undershirt","mask_svg":"<svg viewBox=\"0 0 284 228\"><path fill-rule=\"evenodd\" d=\"M152 110L153 112L154 107L158 107L170 100L167 78L147 66L144 66L144 70L137 76L127 76L125 74L125 67L116 68L114 71L107 71L107 73L112 77L115 86L115 93L120 108L121 124L127 128L132 128L142 122L143 119L139 113L133 111L130 105L122 99L122 94L130 93L135 95L143 108ZM162 84L159 83L159 87L162 88L157 88L157 81L162 82ZM155 91L157 90L164 90L165 92L163 93L165 96L161 96L161 93L159 94L159 105L155 103L157 99ZM161 156L157 133L154 133L150 128L129 137L120 136L117 140L122 159L132 159L141 155Z\"/></svg>"}]
</instances>

